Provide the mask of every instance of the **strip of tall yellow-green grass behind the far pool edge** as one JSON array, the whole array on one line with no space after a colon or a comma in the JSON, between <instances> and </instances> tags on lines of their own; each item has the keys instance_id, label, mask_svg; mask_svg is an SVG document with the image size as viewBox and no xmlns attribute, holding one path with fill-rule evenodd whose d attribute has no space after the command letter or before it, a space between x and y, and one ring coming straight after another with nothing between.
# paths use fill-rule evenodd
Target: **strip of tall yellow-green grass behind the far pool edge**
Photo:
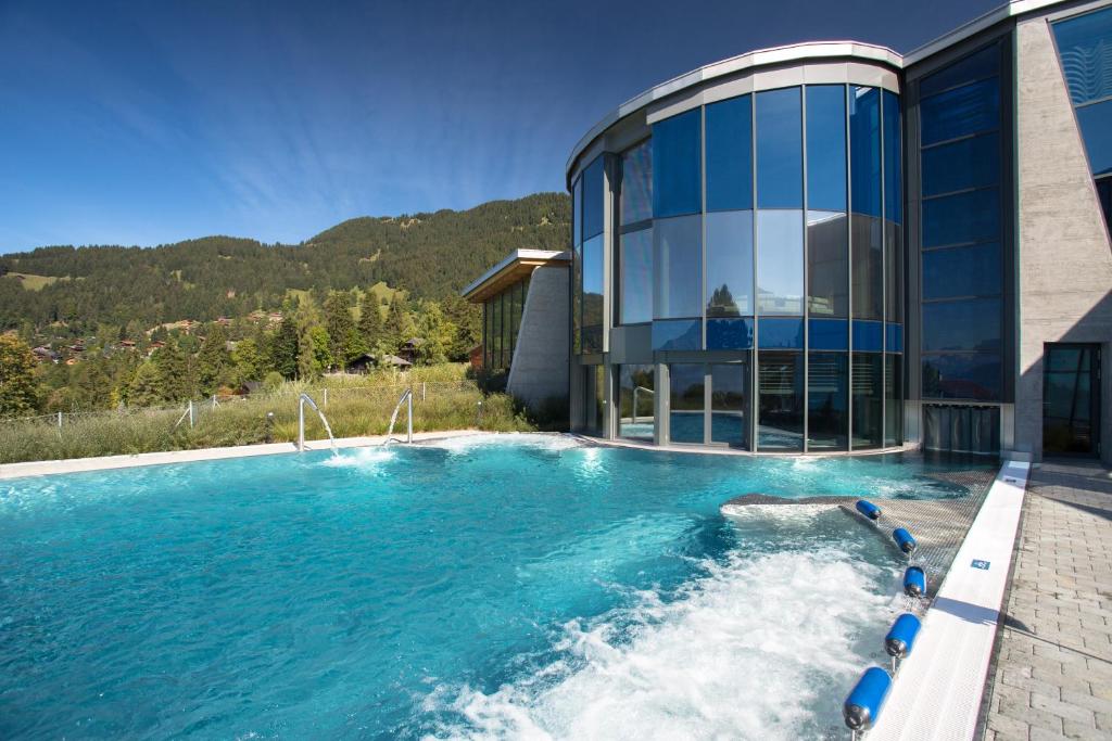
<instances>
[{"instance_id":1,"label":"strip of tall yellow-green grass behind the far pool edge","mask_svg":"<svg viewBox=\"0 0 1112 741\"><path fill-rule=\"evenodd\" d=\"M414 431L480 429L496 432L533 431L537 422L506 394L484 394L461 379L460 367L417 368L401 374L358 381L326 379L310 393L321 405L337 438L385 434L390 413L409 382L414 383ZM414 379L413 377L416 377ZM426 378L421 378L426 377ZM449 377L449 378L444 378ZM429 380L429 379L443 380ZM425 383L424 397L421 383ZM324 389L327 389L327 401ZM121 453L191 450L297 440L297 399L304 384L286 383L270 394L221 402L195 402L195 424L175 427L185 405L170 410L130 410L64 418L0 422L0 463L88 458ZM479 413L479 402L481 414ZM268 422L268 412L274 418ZM405 432L405 411L398 414L397 437ZM306 438L327 437L315 414L306 415Z\"/></svg>"}]
</instances>

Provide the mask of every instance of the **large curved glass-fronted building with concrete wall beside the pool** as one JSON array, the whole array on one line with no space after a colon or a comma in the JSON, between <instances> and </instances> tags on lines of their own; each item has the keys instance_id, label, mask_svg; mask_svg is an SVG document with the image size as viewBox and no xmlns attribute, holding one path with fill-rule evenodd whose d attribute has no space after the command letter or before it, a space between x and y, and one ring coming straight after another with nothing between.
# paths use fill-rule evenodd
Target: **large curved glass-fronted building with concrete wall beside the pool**
<instances>
[{"instance_id":1,"label":"large curved glass-fronted building with concrete wall beside the pool","mask_svg":"<svg viewBox=\"0 0 1112 741\"><path fill-rule=\"evenodd\" d=\"M566 173L572 428L1106 455L1110 4L756 51L607 116Z\"/></svg>"}]
</instances>

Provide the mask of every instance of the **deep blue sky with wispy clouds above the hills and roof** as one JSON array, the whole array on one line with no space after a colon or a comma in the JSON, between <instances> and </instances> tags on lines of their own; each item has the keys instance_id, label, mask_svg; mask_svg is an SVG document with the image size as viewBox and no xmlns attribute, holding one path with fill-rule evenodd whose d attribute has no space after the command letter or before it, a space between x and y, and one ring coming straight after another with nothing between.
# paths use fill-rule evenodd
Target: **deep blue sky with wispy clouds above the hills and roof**
<instances>
[{"instance_id":1,"label":"deep blue sky with wispy clouds above the hills and roof","mask_svg":"<svg viewBox=\"0 0 1112 741\"><path fill-rule=\"evenodd\" d=\"M608 110L815 39L907 51L995 0L0 0L0 253L563 190Z\"/></svg>"}]
</instances>

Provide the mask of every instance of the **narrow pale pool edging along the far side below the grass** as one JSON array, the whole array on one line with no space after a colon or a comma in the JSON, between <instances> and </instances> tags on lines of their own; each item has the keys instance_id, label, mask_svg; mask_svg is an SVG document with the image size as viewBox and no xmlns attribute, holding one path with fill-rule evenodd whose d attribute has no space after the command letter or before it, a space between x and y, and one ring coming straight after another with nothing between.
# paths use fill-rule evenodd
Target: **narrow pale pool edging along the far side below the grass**
<instances>
[{"instance_id":1,"label":"narrow pale pool edging along the far side below the grass","mask_svg":"<svg viewBox=\"0 0 1112 741\"><path fill-rule=\"evenodd\" d=\"M438 432L414 432L414 442L443 440L473 434L489 434L481 430L447 430ZM394 435L394 440L398 437ZM368 448L380 445L386 435L364 438L337 438L337 448ZM328 440L306 440L306 450L328 450ZM259 445L234 445L229 448L200 448L198 450L169 450L157 453L135 453L131 455L102 455L97 458L70 458L58 461L29 461L0 465L0 480L18 479L27 475L50 475L78 471L108 471L138 465L162 465L166 463L188 463L191 461L215 461L225 458L248 458L252 455L277 455L296 453L295 442L274 442Z\"/></svg>"}]
</instances>

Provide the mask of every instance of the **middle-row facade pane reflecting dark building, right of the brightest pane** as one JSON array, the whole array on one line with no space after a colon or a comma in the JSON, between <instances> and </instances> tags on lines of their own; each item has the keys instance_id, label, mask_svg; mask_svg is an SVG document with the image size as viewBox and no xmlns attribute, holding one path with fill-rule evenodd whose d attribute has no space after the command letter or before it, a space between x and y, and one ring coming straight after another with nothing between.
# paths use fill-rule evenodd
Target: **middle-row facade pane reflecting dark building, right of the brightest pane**
<instances>
[{"instance_id":1,"label":"middle-row facade pane reflecting dark building, right of the brightest pane","mask_svg":"<svg viewBox=\"0 0 1112 741\"><path fill-rule=\"evenodd\" d=\"M845 213L807 211L807 309L850 316L850 229Z\"/></svg>"}]
</instances>

